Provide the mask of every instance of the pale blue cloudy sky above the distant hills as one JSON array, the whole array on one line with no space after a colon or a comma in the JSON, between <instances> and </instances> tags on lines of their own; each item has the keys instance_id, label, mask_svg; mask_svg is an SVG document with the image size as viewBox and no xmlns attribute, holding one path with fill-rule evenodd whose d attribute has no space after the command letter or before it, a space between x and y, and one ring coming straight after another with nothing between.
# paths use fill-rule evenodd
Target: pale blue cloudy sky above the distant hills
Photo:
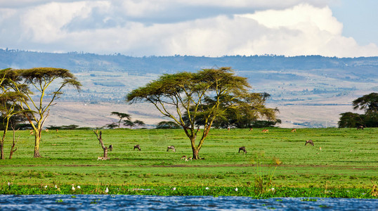
<instances>
[{"instance_id":1,"label":"pale blue cloudy sky above the distant hills","mask_svg":"<svg viewBox=\"0 0 378 211\"><path fill-rule=\"evenodd\" d=\"M0 0L0 48L378 56L377 0Z\"/></svg>"}]
</instances>

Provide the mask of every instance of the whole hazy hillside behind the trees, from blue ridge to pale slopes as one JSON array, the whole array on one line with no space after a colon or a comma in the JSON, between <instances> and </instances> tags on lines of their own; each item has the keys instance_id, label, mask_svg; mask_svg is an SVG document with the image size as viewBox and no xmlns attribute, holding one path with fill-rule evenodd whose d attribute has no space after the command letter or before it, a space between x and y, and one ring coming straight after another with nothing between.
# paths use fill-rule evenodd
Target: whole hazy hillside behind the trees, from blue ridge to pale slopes
<instances>
[{"instance_id":1,"label":"whole hazy hillside behind the trees, from blue ridge to pale slopes","mask_svg":"<svg viewBox=\"0 0 378 211\"><path fill-rule=\"evenodd\" d=\"M254 91L271 94L268 103L281 110L280 117L285 127L334 127L339 113L351 110L353 99L378 91L378 57L131 57L0 49L0 69L54 67L71 70L82 82L82 92L77 94L69 90L60 101L83 102L89 106L122 103L128 91L163 73L223 66L232 67L237 75L247 77ZM104 109L103 115L111 111ZM314 115L317 112L323 114ZM141 112L138 114L141 115ZM75 124L80 121L85 123L85 120L79 120Z\"/></svg>"}]
</instances>

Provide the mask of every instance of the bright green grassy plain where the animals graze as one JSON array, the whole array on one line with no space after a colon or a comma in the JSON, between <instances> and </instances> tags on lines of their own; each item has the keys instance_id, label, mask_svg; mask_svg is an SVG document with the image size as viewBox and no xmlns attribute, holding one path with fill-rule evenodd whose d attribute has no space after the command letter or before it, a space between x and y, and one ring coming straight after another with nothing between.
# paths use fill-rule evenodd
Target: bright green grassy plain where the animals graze
<instances>
[{"instance_id":1,"label":"bright green grassy plain where the animals graze","mask_svg":"<svg viewBox=\"0 0 378 211\"><path fill-rule=\"evenodd\" d=\"M105 145L114 147L110 160L97 160L103 150L90 130L44 132L43 158L32 158L34 136L20 131L13 159L0 160L0 182L3 186L10 181L49 186L248 187L256 178L273 174L275 187L372 188L377 184L378 128L290 131L212 129L200 151L204 160L189 162L180 159L192 156L181 129L105 129ZM8 134L6 157L12 139ZM308 139L315 146L304 146ZM136 144L141 151L133 151ZM176 147L176 153L167 152L169 145ZM247 148L247 154L237 153L240 146Z\"/></svg>"}]
</instances>

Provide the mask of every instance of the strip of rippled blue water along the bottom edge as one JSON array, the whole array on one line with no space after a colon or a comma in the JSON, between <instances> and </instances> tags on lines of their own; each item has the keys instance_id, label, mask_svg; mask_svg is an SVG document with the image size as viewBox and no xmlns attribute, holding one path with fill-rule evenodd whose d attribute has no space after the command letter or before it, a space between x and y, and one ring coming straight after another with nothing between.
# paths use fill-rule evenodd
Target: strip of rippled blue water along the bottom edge
<instances>
[{"instance_id":1,"label":"strip of rippled blue water along the bottom edge","mask_svg":"<svg viewBox=\"0 0 378 211\"><path fill-rule=\"evenodd\" d=\"M0 195L0 210L378 210L377 199Z\"/></svg>"}]
</instances>

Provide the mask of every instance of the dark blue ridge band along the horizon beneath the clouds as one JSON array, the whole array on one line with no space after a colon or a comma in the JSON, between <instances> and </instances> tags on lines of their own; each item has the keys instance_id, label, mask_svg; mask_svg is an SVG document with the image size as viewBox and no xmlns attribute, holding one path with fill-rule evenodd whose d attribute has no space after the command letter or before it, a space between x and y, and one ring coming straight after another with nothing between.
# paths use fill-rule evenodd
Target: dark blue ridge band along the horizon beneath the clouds
<instances>
[{"instance_id":1,"label":"dark blue ridge band along the horizon beneath the clouds","mask_svg":"<svg viewBox=\"0 0 378 211\"><path fill-rule=\"evenodd\" d=\"M122 71L161 74L164 72L193 71L214 66L230 66L235 70L364 70L378 73L378 57L337 58L323 56L148 56L131 57L121 54L43 53L0 49L1 68L59 67L72 72Z\"/></svg>"}]
</instances>

